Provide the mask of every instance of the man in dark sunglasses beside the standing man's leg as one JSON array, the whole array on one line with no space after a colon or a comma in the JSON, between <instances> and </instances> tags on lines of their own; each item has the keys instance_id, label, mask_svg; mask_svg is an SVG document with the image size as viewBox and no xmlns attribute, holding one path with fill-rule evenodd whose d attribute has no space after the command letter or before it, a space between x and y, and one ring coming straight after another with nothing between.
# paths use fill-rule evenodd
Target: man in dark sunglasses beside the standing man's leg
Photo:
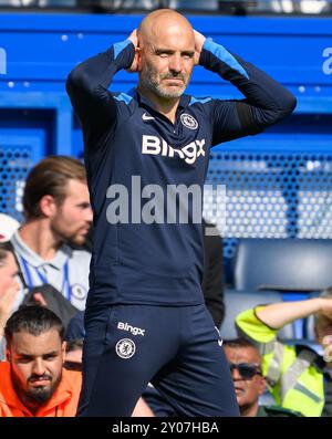
<instances>
[{"instance_id":1,"label":"man in dark sunglasses beside the standing man's leg","mask_svg":"<svg viewBox=\"0 0 332 439\"><path fill-rule=\"evenodd\" d=\"M259 397L266 389L261 370L261 355L257 347L245 338L224 343L229 362L240 414L243 417L288 417L299 414L278 406L259 406Z\"/></svg>"}]
</instances>

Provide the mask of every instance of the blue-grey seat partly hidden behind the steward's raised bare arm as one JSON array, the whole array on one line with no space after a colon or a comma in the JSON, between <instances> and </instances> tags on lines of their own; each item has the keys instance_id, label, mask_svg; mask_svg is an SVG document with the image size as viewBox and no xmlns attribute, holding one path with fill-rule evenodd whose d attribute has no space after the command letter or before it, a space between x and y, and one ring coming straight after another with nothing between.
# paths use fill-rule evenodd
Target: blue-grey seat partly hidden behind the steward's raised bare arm
<instances>
[{"instance_id":1,"label":"blue-grey seat partly hidden behind the steward's raised bare arm","mask_svg":"<svg viewBox=\"0 0 332 439\"><path fill-rule=\"evenodd\" d=\"M236 291L226 290L224 292L226 306L225 320L220 327L221 337L225 339L236 338L235 318L242 311L249 310L257 305L282 302L282 294L277 291ZM283 341L295 338L292 325L284 326L279 332L279 337Z\"/></svg>"}]
</instances>

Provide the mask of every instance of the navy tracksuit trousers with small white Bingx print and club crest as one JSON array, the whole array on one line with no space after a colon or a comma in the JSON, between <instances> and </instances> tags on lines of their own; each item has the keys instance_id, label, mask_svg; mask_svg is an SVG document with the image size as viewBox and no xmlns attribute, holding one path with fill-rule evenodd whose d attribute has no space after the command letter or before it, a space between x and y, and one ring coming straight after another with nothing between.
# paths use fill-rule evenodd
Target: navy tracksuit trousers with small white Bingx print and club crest
<instances>
[{"instance_id":1,"label":"navy tracksuit trousers with small white Bingx print and club crest","mask_svg":"<svg viewBox=\"0 0 332 439\"><path fill-rule=\"evenodd\" d=\"M205 305L87 307L80 417L131 416L153 385L179 416L239 416Z\"/></svg>"}]
</instances>

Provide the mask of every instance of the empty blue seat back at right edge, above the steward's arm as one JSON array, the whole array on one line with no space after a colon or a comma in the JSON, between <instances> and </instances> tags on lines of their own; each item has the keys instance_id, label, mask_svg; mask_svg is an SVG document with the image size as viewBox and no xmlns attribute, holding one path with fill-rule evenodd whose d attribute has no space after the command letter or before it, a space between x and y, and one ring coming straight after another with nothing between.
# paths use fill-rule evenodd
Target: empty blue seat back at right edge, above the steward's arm
<instances>
[{"instance_id":1,"label":"empty blue seat back at right edge, above the steward's arm","mask_svg":"<svg viewBox=\"0 0 332 439\"><path fill-rule=\"evenodd\" d=\"M332 240L243 239L235 257L236 290L313 292L332 285Z\"/></svg>"}]
</instances>

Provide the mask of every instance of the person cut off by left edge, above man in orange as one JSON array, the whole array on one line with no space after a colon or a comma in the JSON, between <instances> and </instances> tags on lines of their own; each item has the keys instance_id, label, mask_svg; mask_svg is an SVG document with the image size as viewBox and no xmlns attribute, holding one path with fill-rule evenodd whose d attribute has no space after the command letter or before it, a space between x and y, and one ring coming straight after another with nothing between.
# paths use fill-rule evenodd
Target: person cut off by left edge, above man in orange
<instances>
[{"instance_id":1,"label":"person cut off by left edge, above man in orange","mask_svg":"<svg viewBox=\"0 0 332 439\"><path fill-rule=\"evenodd\" d=\"M18 265L10 248L0 243L0 360L4 358L3 331L18 297Z\"/></svg>"}]
</instances>

